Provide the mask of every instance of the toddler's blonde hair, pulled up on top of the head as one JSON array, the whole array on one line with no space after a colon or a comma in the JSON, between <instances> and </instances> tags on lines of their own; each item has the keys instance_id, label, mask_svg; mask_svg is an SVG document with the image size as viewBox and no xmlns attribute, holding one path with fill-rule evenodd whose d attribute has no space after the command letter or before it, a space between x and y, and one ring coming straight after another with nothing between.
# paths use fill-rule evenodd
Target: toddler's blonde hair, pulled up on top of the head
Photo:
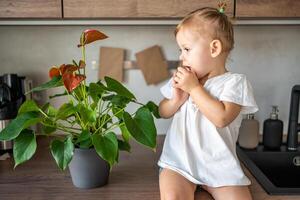
<instances>
[{"instance_id":1,"label":"toddler's blonde hair, pulled up on top of the head","mask_svg":"<svg viewBox=\"0 0 300 200\"><path fill-rule=\"evenodd\" d=\"M194 28L222 43L222 52L230 52L234 45L233 26L228 17L216 8L204 7L184 17L175 29L175 36L183 27Z\"/></svg>"}]
</instances>

